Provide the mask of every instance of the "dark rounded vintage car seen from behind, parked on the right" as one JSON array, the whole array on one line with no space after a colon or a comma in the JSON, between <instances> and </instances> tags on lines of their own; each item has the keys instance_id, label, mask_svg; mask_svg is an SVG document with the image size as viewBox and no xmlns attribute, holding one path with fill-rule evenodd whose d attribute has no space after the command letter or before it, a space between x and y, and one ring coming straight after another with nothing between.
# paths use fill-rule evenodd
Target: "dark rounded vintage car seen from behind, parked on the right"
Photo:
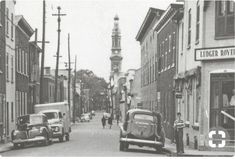
<instances>
[{"instance_id":1,"label":"dark rounded vintage car seen from behind, parked on the right","mask_svg":"<svg viewBox=\"0 0 235 159\"><path fill-rule=\"evenodd\" d=\"M120 125L120 151L129 145L148 146L162 151L165 144L165 132L161 123L161 114L149 110L131 109L127 112L123 125Z\"/></svg>"}]
</instances>

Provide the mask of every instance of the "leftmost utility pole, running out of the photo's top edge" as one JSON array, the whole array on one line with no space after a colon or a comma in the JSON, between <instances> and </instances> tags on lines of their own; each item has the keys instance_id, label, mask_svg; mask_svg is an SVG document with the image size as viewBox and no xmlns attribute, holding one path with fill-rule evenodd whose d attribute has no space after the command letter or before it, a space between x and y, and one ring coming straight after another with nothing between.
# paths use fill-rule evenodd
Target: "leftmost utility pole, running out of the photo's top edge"
<instances>
[{"instance_id":1,"label":"leftmost utility pole, running out of the photo's top edge","mask_svg":"<svg viewBox=\"0 0 235 159\"><path fill-rule=\"evenodd\" d=\"M40 103L43 101L43 78L44 78L44 55L45 55L45 25L46 25L46 2L43 0L42 18L42 56L41 56L41 76L40 76Z\"/></svg>"}]
</instances>

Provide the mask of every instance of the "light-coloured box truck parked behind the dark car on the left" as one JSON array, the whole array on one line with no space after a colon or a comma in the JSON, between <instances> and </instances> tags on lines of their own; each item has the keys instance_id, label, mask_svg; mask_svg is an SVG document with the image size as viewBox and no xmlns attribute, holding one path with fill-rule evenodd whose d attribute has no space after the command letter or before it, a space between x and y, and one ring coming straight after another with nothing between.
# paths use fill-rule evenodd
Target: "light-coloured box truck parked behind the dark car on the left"
<instances>
[{"instance_id":1,"label":"light-coloured box truck parked behind the dark car on the left","mask_svg":"<svg viewBox=\"0 0 235 159\"><path fill-rule=\"evenodd\" d=\"M60 142L69 141L71 132L70 111L67 102L36 104L35 113L45 114L53 132L53 138Z\"/></svg>"}]
</instances>

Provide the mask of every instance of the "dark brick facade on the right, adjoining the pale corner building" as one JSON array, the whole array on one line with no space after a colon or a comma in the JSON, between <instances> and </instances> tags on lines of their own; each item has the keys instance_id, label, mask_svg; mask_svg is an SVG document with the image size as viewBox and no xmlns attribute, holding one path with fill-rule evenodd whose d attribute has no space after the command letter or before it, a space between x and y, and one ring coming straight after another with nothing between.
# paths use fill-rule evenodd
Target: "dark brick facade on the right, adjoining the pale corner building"
<instances>
[{"instance_id":1,"label":"dark brick facade on the right, adjoining the pale corner building","mask_svg":"<svg viewBox=\"0 0 235 159\"><path fill-rule=\"evenodd\" d=\"M173 77L176 72L176 35L177 25L170 20L159 32L157 39L157 59L159 59L157 66L157 91L160 92L160 112L163 115L164 127L168 138L173 138L173 123L175 120ZM164 44L162 43L163 41ZM167 57L167 60L165 57Z\"/></svg>"}]
</instances>

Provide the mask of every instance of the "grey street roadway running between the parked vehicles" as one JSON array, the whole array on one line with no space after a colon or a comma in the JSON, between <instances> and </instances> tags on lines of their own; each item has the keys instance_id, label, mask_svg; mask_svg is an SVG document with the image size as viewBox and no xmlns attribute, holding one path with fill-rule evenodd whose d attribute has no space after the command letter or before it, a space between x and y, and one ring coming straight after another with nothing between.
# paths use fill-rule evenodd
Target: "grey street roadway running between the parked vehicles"
<instances>
[{"instance_id":1,"label":"grey street roadway running between the parked vehicles","mask_svg":"<svg viewBox=\"0 0 235 159\"><path fill-rule=\"evenodd\" d=\"M49 146L27 146L23 149L10 150L1 155L4 156L61 156L61 157L141 157L152 156L160 157L167 154L158 154L154 149L148 147L139 148L130 146L126 152L119 151L119 127L114 121L112 129L101 126L102 113L97 113L90 121L85 123L76 123L72 126L70 141L59 143L55 139L52 145Z\"/></svg>"}]
</instances>

